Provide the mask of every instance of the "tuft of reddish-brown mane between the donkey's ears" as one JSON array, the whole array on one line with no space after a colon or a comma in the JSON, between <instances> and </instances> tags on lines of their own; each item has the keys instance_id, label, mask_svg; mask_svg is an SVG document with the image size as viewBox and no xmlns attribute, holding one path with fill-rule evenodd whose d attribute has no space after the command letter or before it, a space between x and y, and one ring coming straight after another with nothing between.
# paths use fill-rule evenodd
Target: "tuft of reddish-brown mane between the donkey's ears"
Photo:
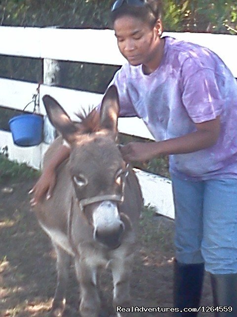
<instances>
[{"instance_id":1,"label":"tuft of reddish-brown mane between the donkey's ears","mask_svg":"<svg viewBox=\"0 0 237 317\"><path fill-rule=\"evenodd\" d=\"M80 128L83 133L93 133L100 130L100 113L95 108L89 109L89 113L85 109L77 113L77 117L80 119Z\"/></svg>"}]
</instances>

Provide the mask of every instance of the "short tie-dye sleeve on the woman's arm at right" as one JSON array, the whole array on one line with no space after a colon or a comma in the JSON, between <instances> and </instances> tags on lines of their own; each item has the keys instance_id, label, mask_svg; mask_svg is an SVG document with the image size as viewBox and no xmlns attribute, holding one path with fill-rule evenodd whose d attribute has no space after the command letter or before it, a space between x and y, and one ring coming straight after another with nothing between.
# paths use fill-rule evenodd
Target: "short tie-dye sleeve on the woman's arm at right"
<instances>
[{"instance_id":1,"label":"short tie-dye sleeve on the woman's arm at right","mask_svg":"<svg viewBox=\"0 0 237 317\"><path fill-rule=\"evenodd\" d=\"M191 75L190 75L191 74ZM183 66L183 104L194 123L215 119L223 110L222 77L192 59Z\"/></svg>"}]
</instances>

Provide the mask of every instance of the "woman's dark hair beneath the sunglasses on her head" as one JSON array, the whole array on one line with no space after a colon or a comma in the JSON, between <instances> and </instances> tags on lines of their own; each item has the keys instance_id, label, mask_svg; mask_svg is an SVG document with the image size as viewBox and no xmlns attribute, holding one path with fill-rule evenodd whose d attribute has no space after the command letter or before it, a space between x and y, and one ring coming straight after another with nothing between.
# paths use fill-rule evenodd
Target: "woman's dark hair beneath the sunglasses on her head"
<instances>
[{"instance_id":1,"label":"woman's dark hair beneath the sunglasses on her head","mask_svg":"<svg viewBox=\"0 0 237 317\"><path fill-rule=\"evenodd\" d=\"M124 15L141 19L143 22L148 23L153 27L161 17L161 8L158 0L146 0L144 6L129 5L124 1L118 9L111 12L112 24L114 25L115 20Z\"/></svg>"}]
</instances>

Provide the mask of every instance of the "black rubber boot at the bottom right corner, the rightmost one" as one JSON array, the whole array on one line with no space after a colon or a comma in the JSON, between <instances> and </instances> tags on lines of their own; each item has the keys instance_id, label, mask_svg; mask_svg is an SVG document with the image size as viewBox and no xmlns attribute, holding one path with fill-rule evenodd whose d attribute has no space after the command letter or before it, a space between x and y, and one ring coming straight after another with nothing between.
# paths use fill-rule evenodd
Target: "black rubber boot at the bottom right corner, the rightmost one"
<instances>
[{"instance_id":1,"label":"black rubber boot at the bottom right corner, the rightmost one","mask_svg":"<svg viewBox=\"0 0 237 317\"><path fill-rule=\"evenodd\" d=\"M237 274L211 274L211 285L214 308L228 309L215 311L215 317L237 317Z\"/></svg>"}]
</instances>

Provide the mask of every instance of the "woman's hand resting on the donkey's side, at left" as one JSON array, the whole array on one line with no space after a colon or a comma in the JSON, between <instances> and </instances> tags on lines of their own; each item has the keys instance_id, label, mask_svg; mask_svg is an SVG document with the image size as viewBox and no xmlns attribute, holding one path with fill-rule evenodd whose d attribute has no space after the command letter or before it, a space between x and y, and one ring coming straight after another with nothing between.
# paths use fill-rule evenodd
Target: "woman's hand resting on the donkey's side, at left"
<instances>
[{"instance_id":1,"label":"woman's hand resting on the donkey's side, at left","mask_svg":"<svg viewBox=\"0 0 237 317\"><path fill-rule=\"evenodd\" d=\"M38 182L29 192L29 194L34 194L34 197L30 201L31 206L36 206L43 196L46 196L46 199L48 200L52 195L55 184L56 172L54 170L45 170Z\"/></svg>"}]
</instances>

